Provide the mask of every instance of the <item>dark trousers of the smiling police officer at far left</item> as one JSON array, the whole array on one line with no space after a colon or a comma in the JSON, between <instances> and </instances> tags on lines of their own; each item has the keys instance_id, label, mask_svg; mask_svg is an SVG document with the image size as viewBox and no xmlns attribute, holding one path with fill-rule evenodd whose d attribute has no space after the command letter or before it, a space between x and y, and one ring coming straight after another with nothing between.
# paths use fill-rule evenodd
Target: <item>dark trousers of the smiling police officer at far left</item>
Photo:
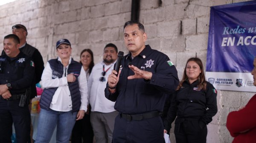
<instances>
[{"instance_id":1,"label":"dark trousers of the smiling police officer at far left","mask_svg":"<svg viewBox=\"0 0 256 143\"><path fill-rule=\"evenodd\" d=\"M17 143L30 143L30 112L28 105L19 107L20 100L6 101L0 98L0 142L12 143L14 123Z\"/></svg>"}]
</instances>

